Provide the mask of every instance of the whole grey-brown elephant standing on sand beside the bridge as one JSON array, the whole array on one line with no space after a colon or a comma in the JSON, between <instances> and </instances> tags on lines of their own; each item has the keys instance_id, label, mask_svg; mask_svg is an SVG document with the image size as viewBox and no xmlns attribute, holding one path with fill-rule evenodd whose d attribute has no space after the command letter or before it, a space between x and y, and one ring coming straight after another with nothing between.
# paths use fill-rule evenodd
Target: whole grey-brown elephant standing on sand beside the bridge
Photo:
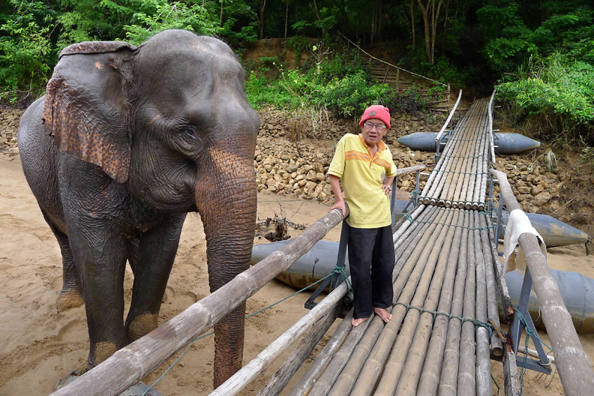
<instances>
[{"instance_id":1,"label":"whole grey-brown elephant standing on sand beside the bridge","mask_svg":"<svg viewBox=\"0 0 594 396\"><path fill-rule=\"evenodd\" d=\"M22 115L23 171L63 258L58 309L85 305L87 369L157 327L187 213L202 219L211 291L249 267L260 119L243 81L231 48L193 32L85 41ZM241 367L244 318L245 302L215 326L215 387Z\"/></svg>"}]
</instances>

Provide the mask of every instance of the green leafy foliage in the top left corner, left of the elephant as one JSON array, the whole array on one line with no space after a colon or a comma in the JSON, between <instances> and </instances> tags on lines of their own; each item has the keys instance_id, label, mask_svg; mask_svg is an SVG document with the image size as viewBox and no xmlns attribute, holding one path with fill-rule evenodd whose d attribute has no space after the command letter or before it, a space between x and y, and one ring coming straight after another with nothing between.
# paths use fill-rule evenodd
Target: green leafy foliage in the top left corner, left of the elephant
<instances>
[{"instance_id":1,"label":"green leafy foliage in the top left corner, left of the elephant","mask_svg":"<svg viewBox=\"0 0 594 396\"><path fill-rule=\"evenodd\" d=\"M43 1L9 1L15 11L0 26L0 98L15 103L43 91L53 66L55 14Z\"/></svg>"}]
</instances>

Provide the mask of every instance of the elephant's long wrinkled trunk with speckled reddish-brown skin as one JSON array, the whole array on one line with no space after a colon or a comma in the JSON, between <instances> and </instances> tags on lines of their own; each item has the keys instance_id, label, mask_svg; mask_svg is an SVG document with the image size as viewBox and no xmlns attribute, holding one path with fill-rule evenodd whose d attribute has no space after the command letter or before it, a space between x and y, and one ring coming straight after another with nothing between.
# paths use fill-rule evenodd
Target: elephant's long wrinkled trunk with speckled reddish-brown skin
<instances>
[{"instance_id":1,"label":"elephant's long wrinkled trunk with speckled reddish-brown skin","mask_svg":"<svg viewBox=\"0 0 594 396\"><path fill-rule=\"evenodd\" d=\"M236 158L236 157L235 157ZM238 166L239 164L239 166ZM210 291L250 266L256 223L257 190L253 157L215 166L217 183L198 183L196 202L207 239ZM214 387L241 368L245 302L214 326Z\"/></svg>"}]
</instances>

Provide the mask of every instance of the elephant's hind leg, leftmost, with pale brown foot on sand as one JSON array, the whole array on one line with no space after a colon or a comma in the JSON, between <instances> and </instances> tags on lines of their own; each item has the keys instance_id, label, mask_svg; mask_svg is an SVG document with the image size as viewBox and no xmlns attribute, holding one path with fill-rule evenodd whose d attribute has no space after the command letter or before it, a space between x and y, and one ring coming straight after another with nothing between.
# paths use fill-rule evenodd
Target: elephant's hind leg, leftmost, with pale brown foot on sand
<instances>
[{"instance_id":1,"label":"elephant's hind leg, leftmost, with pale brown foot on sand","mask_svg":"<svg viewBox=\"0 0 594 396\"><path fill-rule=\"evenodd\" d=\"M82 284L80 282L80 275L75 265L75 260L72 256L72 249L70 249L70 242L68 236L58 230L56 224L49 218L46 211L41 209L46 222L48 223L53 235L58 240L60 252L62 253L62 290L58 295L58 311L62 312L70 308L79 307L84 304L82 296Z\"/></svg>"}]
</instances>

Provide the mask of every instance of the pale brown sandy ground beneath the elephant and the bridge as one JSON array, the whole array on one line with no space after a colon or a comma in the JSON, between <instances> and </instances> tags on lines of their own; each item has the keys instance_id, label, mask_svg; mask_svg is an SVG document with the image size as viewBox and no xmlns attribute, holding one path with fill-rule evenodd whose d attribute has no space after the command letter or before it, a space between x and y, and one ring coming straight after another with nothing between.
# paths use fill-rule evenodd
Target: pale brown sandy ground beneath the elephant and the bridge
<instances>
[{"instance_id":1,"label":"pale brown sandy ground beneath the elephant and the bridge","mask_svg":"<svg viewBox=\"0 0 594 396\"><path fill-rule=\"evenodd\" d=\"M271 194L259 194L260 219L274 214L286 216L295 223L311 225L328 211L328 206L316 202L285 199ZM290 235L298 232L290 230ZM72 369L82 368L89 348L84 308L66 312L56 310L56 297L61 287L61 257L58 244L46 225L22 174L18 157L0 153L0 396L48 395L56 382ZM340 230L335 229L325 239L336 241ZM263 242L256 239L256 243ZM594 277L594 256L586 256L583 247L556 248L549 252L551 268L578 271ZM124 287L129 303L131 272L127 271ZM247 301L248 313L261 310L295 292L290 286L273 280ZM205 259L205 236L200 217L190 216L183 227L179 253L167 286L160 323L171 319L208 293ZM246 320L244 363L266 348L290 328L307 311L304 301L309 293L275 305ZM330 334L338 324L330 329ZM546 334L541 332L548 341ZM323 343L327 341L327 334ZM581 336L590 361L594 362L594 335ZM321 350L316 347L314 355ZM290 348L291 349L291 348ZM280 359L248 385L243 395L255 395L267 378L280 366ZM179 354L178 354L179 355ZM214 337L196 341L179 364L164 376L155 388L167 396L207 395L212 390ZM168 360L172 363L174 357ZM308 361L298 371L304 374ZM144 379L153 383L169 364L163 364ZM493 376L503 386L501 364L492 363ZM562 395L560 378L538 376L528 371L524 376L524 395ZM283 392L297 383L294 379ZM493 394L497 394L493 385ZM499 392L503 395L503 390Z\"/></svg>"}]
</instances>

